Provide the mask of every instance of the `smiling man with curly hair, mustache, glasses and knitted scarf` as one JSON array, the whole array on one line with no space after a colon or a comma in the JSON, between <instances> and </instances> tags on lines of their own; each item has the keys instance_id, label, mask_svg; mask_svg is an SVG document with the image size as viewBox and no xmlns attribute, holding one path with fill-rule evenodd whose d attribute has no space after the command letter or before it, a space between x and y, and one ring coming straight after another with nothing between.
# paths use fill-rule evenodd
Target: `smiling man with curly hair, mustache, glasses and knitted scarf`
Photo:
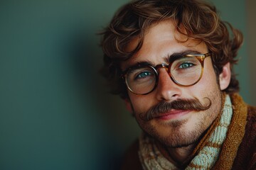
<instances>
[{"instance_id":1,"label":"smiling man with curly hair, mustache, glasses and knitted scarf","mask_svg":"<svg viewBox=\"0 0 256 170\"><path fill-rule=\"evenodd\" d=\"M256 108L233 74L242 34L214 6L132 1L102 34L102 72L143 130L122 169L256 169Z\"/></svg>"}]
</instances>

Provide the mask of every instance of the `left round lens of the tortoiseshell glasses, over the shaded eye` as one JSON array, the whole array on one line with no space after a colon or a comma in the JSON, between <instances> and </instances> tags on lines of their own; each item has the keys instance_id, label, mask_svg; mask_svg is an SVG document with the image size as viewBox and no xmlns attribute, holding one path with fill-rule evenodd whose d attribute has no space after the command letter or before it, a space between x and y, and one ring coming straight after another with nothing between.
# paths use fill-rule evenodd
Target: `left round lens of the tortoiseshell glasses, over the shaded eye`
<instances>
[{"instance_id":1,"label":"left round lens of the tortoiseshell glasses, over the shaded eye","mask_svg":"<svg viewBox=\"0 0 256 170\"><path fill-rule=\"evenodd\" d=\"M156 72L149 66L130 69L127 72L126 83L134 94L147 94L154 89Z\"/></svg>"}]
</instances>

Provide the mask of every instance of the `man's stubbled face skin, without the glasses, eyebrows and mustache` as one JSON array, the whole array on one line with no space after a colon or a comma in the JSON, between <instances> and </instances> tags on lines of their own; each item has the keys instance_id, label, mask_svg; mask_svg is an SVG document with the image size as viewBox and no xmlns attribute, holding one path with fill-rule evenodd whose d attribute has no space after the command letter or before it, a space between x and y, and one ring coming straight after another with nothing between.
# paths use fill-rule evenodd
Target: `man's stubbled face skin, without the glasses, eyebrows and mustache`
<instances>
[{"instance_id":1,"label":"man's stubbled face skin, without the glasses, eyebrows and mustache","mask_svg":"<svg viewBox=\"0 0 256 170\"><path fill-rule=\"evenodd\" d=\"M176 52L196 51L200 54L208 52L203 42L189 39L179 34L172 21L161 21L152 26L144 37L142 48L128 61L121 64L122 70L138 62L169 64L166 58ZM127 50L132 50L137 40L129 44ZM222 97L220 85L217 82L210 57L204 60L203 76L193 86L178 86L169 77L166 69L160 68L159 81L156 89L150 94L136 95L128 91L127 105L139 123L139 126L152 137L168 147L182 147L193 144L209 127L220 113ZM220 81L222 81L220 79ZM205 111L171 109L157 117L145 120L146 112L159 103L171 103L176 100L197 98L203 106L209 105ZM209 102L210 100L210 102Z\"/></svg>"}]
</instances>

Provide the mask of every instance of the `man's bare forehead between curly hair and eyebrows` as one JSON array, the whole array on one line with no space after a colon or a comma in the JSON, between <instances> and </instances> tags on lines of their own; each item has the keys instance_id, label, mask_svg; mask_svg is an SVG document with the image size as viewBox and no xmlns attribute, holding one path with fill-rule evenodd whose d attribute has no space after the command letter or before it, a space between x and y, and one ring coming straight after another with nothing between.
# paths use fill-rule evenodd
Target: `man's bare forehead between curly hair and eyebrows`
<instances>
[{"instance_id":1,"label":"man's bare forehead between curly hair and eyebrows","mask_svg":"<svg viewBox=\"0 0 256 170\"><path fill-rule=\"evenodd\" d=\"M137 47L139 39L132 40L127 46L127 51ZM136 64L137 62L151 62L161 64L166 58L176 52L197 51L208 52L204 42L191 40L186 35L178 33L174 21L166 20L154 24L144 35L143 45L139 52L121 63L122 70Z\"/></svg>"}]
</instances>

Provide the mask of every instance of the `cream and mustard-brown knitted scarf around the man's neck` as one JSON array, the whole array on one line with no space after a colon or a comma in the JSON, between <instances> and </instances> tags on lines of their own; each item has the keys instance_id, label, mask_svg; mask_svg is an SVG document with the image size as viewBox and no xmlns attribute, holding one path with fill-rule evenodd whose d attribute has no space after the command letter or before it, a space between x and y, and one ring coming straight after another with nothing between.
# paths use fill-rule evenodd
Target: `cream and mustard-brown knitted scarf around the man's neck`
<instances>
[{"instance_id":1,"label":"cream and mustard-brown knitted scarf around the man's neck","mask_svg":"<svg viewBox=\"0 0 256 170\"><path fill-rule=\"evenodd\" d=\"M235 97L239 101L240 96ZM216 118L194 149L192 156L188 158L191 162L185 169L231 169L245 133L246 115L245 108L235 109L233 115L233 106L227 95L223 113ZM239 131L238 134L235 131ZM155 140L145 134L139 138L139 159L144 169L178 169L161 154Z\"/></svg>"}]
</instances>

